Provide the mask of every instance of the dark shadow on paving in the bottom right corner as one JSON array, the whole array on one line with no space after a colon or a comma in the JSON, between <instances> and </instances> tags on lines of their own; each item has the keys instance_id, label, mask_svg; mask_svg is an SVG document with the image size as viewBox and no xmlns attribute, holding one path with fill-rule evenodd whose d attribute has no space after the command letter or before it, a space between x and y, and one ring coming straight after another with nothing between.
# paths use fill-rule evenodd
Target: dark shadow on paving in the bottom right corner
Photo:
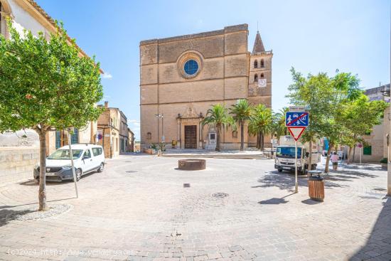
<instances>
[{"instance_id":1,"label":"dark shadow on paving in the bottom right corner","mask_svg":"<svg viewBox=\"0 0 391 261\"><path fill-rule=\"evenodd\" d=\"M391 198L382 205L370 238L349 260L391 260Z\"/></svg>"}]
</instances>

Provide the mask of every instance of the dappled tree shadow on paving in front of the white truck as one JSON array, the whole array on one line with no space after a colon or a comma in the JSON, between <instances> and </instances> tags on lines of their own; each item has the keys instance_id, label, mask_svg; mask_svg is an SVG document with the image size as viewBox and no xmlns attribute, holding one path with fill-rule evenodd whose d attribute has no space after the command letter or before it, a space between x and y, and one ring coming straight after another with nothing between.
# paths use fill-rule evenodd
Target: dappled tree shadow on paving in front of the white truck
<instances>
[{"instance_id":1,"label":"dappled tree shadow on paving in front of the white truck","mask_svg":"<svg viewBox=\"0 0 391 261\"><path fill-rule=\"evenodd\" d=\"M307 176L297 176L299 186L308 187ZM269 171L261 179L258 179L261 185L252 186L252 188L277 187L282 190L294 191L295 177L288 172ZM324 186L327 188L343 187L343 185L326 181Z\"/></svg>"}]
</instances>

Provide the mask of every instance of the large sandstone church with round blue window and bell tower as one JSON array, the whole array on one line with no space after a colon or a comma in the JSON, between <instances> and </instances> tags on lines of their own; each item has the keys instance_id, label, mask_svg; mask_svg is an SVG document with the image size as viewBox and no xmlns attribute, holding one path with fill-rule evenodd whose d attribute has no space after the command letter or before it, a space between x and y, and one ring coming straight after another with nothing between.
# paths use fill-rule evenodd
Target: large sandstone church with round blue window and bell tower
<instances>
[{"instance_id":1,"label":"large sandstone church with round blue window and bell tower","mask_svg":"<svg viewBox=\"0 0 391 261\"><path fill-rule=\"evenodd\" d=\"M241 24L140 42L141 147L215 149L215 129L201 124L212 105L247 99L272 106L273 54L259 32L250 53L248 33ZM223 149L240 148L240 128L223 130L221 138ZM246 126L245 146L255 142Z\"/></svg>"}]
</instances>

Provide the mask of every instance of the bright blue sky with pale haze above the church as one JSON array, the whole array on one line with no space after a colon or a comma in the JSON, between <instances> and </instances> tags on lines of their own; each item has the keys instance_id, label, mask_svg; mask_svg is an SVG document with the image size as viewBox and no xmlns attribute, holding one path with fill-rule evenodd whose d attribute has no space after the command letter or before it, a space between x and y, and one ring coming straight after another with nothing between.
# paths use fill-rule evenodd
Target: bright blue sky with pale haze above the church
<instances>
[{"instance_id":1,"label":"bright blue sky with pale haze above the church","mask_svg":"<svg viewBox=\"0 0 391 261\"><path fill-rule=\"evenodd\" d=\"M307 75L350 72L364 89L390 82L391 0L36 0L95 55L109 107L127 115L139 139L139 42L249 25L273 50L272 109L289 105L290 68ZM102 103L101 102L101 103Z\"/></svg>"}]
</instances>

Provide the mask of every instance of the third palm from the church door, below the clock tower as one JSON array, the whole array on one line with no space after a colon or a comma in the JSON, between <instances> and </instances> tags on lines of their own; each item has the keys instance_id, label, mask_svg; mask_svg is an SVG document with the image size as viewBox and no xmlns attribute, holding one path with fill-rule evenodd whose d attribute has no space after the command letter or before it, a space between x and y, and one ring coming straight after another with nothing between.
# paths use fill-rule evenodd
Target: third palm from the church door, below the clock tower
<instances>
[{"instance_id":1,"label":"third palm from the church door, below the clock tower","mask_svg":"<svg viewBox=\"0 0 391 261\"><path fill-rule=\"evenodd\" d=\"M252 108L249 132L257 135L257 148L264 149L264 136L272 132L272 110L264 105L257 105Z\"/></svg>"}]
</instances>

